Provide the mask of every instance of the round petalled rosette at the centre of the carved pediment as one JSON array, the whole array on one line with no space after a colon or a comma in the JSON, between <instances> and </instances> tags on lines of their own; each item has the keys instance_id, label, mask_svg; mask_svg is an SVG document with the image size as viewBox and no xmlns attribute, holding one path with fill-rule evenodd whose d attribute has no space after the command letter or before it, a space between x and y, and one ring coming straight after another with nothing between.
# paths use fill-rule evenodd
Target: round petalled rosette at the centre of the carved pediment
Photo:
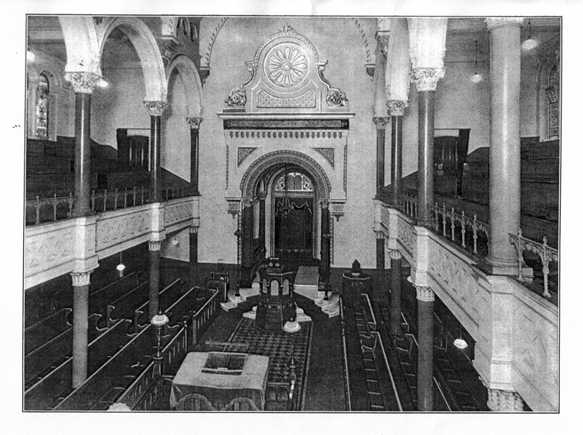
<instances>
[{"instance_id":1,"label":"round petalled rosette at the centre of the carved pediment","mask_svg":"<svg viewBox=\"0 0 583 435\"><path fill-rule=\"evenodd\" d=\"M268 57L266 63L268 79L284 88L291 88L300 83L307 73L307 57L299 47L285 46L277 48Z\"/></svg>"}]
</instances>

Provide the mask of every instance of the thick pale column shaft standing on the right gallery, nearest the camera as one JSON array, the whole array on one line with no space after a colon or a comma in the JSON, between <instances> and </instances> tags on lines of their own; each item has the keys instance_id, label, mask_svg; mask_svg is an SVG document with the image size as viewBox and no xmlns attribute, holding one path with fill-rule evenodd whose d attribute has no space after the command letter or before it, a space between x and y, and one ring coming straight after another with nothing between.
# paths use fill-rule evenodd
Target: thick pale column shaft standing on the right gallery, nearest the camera
<instances>
[{"instance_id":1,"label":"thick pale column shaft standing on the right gallery, nearest the camera","mask_svg":"<svg viewBox=\"0 0 583 435\"><path fill-rule=\"evenodd\" d=\"M520 227L520 27L491 29L490 251L494 273L515 273L508 233Z\"/></svg>"}]
</instances>

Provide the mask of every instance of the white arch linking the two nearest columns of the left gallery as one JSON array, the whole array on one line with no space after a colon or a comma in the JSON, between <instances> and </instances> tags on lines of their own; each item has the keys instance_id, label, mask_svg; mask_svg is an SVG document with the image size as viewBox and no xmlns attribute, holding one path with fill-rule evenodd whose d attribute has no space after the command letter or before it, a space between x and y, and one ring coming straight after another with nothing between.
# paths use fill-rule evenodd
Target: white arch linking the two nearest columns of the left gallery
<instances>
[{"instance_id":1,"label":"white arch linking the two nearest columns of the left gallery","mask_svg":"<svg viewBox=\"0 0 583 435\"><path fill-rule=\"evenodd\" d=\"M156 39L148 26L142 20L132 17L108 19L103 21L100 26L99 56L103 51L109 34L115 28L119 28L130 38L140 58L146 86L144 101L165 102L168 94L168 80L164 70L164 61L158 44L156 44Z\"/></svg>"}]
</instances>

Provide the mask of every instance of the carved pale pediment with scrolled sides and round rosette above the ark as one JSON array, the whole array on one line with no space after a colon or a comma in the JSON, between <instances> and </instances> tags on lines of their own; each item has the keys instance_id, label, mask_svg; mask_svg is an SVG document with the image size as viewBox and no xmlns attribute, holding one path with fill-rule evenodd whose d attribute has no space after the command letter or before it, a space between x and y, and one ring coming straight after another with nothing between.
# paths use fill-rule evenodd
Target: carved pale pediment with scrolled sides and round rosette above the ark
<instances>
[{"instance_id":1,"label":"carved pale pediment with scrolled sides and round rosette above the ark","mask_svg":"<svg viewBox=\"0 0 583 435\"><path fill-rule=\"evenodd\" d=\"M231 91L228 111L325 113L347 110L347 97L323 77L327 60L290 26L270 36L245 62L249 78Z\"/></svg>"}]
</instances>

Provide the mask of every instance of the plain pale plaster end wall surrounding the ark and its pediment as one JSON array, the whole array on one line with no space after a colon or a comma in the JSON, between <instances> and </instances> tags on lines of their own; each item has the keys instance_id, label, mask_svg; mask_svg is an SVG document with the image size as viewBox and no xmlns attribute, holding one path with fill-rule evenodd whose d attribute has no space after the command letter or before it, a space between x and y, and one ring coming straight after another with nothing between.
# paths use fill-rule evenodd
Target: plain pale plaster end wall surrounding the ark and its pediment
<instances>
[{"instance_id":1,"label":"plain pale plaster end wall surrounding the ark and its pediment","mask_svg":"<svg viewBox=\"0 0 583 435\"><path fill-rule=\"evenodd\" d=\"M363 20L363 26L374 20ZM202 263L222 258L236 263L236 219L227 213L225 201L227 146L222 122L216 114L225 107L231 89L247 78L244 62L268 36L285 23L314 44L321 59L328 59L324 76L334 87L346 92L350 112L347 141L347 203L345 216L334 222L335 267L349 267L355 258L363 267L374 267L372 198L375 191L376 132L372 123L373 83L366 74L363 36L350 19L317 18L229 18L212 49L212 72L204 85L204 123L200 130L201 226L199 233ZM347 53L353 53L347 56ZM229 149L229 153L235 150ZM339 162L343 164L343 162Z\"/></svg>"}]
</instances>

